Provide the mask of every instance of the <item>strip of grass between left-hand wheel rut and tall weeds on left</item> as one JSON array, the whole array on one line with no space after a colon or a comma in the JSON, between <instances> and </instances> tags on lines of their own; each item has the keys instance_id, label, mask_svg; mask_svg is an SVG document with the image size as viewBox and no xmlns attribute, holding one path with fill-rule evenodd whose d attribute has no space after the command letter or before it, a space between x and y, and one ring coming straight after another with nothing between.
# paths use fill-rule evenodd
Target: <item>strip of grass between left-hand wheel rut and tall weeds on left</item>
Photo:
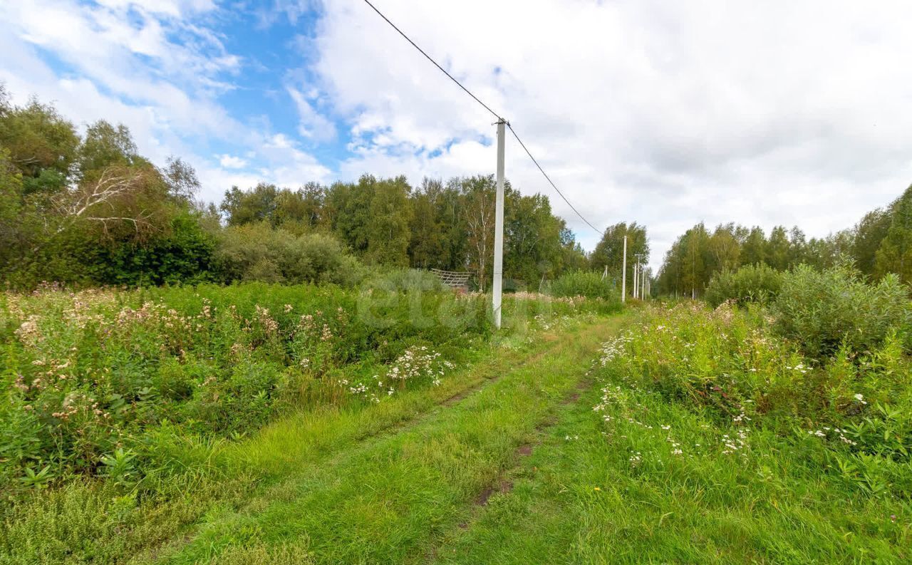
<instances>
[{"instance_id":1,"label":"strip of grass between left-hand wheel rut and tall weeds on left","mask_svg":"<svg viewBox=\"0 0 912 565\"><path fill-rule=\"evenodd\" d=\"M151 469L142 490L110 479L76 477L7 506L0 563L153 560L171 545L181 546L195 531L190 525L201 517L247 508L254 494L262 496L289 475L319 469L338 454L412 426L438 406L565 344L544 339L535 326L554 332L587 324L587 319L591 324L586 316L530 320L523 331L504 332L463 351L462 365L440 385L405 388L378 404L326 399L290 410L246 438L231 441L164 426L150 433L148 442L167 465Z\"/></svg>"}]
</instances>

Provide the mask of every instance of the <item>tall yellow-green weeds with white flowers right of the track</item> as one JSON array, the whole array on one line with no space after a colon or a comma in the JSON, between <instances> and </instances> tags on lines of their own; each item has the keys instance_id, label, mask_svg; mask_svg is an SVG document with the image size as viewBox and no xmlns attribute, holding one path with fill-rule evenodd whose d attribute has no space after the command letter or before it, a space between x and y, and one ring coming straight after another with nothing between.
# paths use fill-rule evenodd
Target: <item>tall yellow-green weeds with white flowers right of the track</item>
<instances>
[{"instance_id":1,"label":"tall yellow-green weeds with white flowers right of the track","mask_svg":"<svg viewBox=\"0 0 912 565\"><path fill-rule=\"evenodd\" d=\"M845 272L818 276L853 283ZM628 387L730 423L738 435L730 432L722 455L747 449L751 429L769 429L800 446L824 442L824 457L808 461L815 472L838 473L867 495L908 497L912 360L896 334L865 351L844 342L819 359L779 337L756 305L678 303L646 316L636 333L606 344L601 365ZM603 404L612 398L606 391Z\"/></svg>"}]
</instances>

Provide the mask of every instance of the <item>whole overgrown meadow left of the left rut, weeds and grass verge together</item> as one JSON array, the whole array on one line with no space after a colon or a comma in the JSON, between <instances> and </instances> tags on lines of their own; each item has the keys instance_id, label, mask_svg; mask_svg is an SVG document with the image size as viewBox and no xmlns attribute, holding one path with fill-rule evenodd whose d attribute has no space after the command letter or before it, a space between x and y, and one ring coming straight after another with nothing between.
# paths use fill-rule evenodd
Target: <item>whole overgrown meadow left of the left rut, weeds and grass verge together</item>
<instances>
[{"instance_id":1,"label":"whole overgrown meadow left of the left rut, weeds and grass verge together","mask_svg":"<svg viewBox=\"0 0 912 565\"><path fill-rule=\"evenodd\" d=\"M451 293L406 290L366 300L332 287L252 284L46 289L4 299L5 394L18 410L7 414L42 414L43 421L32 420L44 426L35 433L56 441L26 442L32 452L25 457L0 457L14 487L0 507L3 563L152 560L168 544L180 545L202 516L243 508L258 488L407 425L522 365L547 345L536 338L545 328L598 311L579 300L510 297L508 327L495 336L483 296ZM363 308L373 322L358 315ZM333 314L311 324L326 313ZM376 324L379 313L391 323ZM252 364L235 356L237 349ZM52 354L65 359L55 358L55 369L67 366L53 385L35 386ZM313 361L306 367L304 355ZM200 364L209 370L201 373ZM93 378L99 371L117 376ZM373 383L373 375L398 375L394 394L389 385L373 389L376 399L351 390L358 379ZM175 379L192 383L192 393L163 394ZM138 387L153 390L143 397ZM112 402L124 409L88 425L50 414L74 394L105 398L101 407L109 412ZM4 438L22 445L22 424L5 418ZM87 440L86 431L98 433ZM67 434L78 441L61 441ZM5 454L11 445L5 442ZM97 458L87 460L88 453ZM42 466L53 473L26 484L28 471Z\"/></svg>"}]
</instances>

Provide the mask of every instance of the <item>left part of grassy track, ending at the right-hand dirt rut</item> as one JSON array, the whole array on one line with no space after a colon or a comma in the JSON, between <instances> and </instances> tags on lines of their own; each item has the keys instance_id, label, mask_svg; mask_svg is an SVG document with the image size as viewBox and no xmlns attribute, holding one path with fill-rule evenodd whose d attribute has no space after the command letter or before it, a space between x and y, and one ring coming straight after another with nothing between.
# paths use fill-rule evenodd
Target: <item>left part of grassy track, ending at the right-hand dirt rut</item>
<instances>
[{"instance_id":1,"label":"left part of grassy track, ending at the right-hand dirt rut","mask_svg":"<svg viewBox=\"0 0 912 565\"><path fill-rule=\"evenodd\" d=\"M617 324L616 318L554 332L524 357L482 364L433 395L268 426L225 456L239 470L271 477L268 485L240 510L209 512L189 543L154 557L167 563L433 559L449 532L507 488L504 473L567 409L565 399Z\"/></svg>"}]
</instances>

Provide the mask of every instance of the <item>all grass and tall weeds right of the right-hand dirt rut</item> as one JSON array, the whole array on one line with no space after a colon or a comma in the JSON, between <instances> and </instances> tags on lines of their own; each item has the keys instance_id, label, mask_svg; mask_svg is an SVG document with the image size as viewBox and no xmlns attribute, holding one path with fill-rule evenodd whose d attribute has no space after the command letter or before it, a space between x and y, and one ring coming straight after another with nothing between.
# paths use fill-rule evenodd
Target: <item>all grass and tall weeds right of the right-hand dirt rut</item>
<instances>
[{"instance_id":1,"label":"all grass and tall weeds right of the right-hand dirt rut","mask_svg":"<svg viewBox=\"0 0 912 565\"><path fill-rule=\"evenodd\" d=\"M906 401L907 357L887 340L813 363L771 323L693 303L638 313L440 561L908 562L910 435L871 404Z\"/></svg>"}]
</instances>

